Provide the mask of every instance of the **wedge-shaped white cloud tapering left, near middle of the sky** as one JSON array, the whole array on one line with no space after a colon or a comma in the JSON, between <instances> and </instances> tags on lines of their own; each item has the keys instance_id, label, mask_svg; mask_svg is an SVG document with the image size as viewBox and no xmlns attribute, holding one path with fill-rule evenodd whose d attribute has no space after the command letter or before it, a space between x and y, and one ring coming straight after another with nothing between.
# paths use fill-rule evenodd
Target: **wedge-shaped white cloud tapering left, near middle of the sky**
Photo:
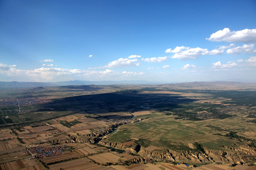
<instances>
[{"instance_id":1,"label":"wedge-shaped white cloud tapering left, near middle of the sky","mask_svg":"<svg viewBox=\"0 0 256 170\"><path fill-rule=\"evenodd\" d=\"M118 68L118 67L129 67L129 66L139 66L140 63L138 59L123 59L120 58L118 60L109 62L108 65L104 67L99 67L99 68Z\"/></svg>"}]
</instances>

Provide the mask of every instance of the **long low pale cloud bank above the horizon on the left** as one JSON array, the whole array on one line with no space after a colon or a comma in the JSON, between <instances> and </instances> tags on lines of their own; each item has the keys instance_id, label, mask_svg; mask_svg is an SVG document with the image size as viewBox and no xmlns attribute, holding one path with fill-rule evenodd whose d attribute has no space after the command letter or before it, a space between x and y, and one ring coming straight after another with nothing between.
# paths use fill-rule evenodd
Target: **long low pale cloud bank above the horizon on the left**
<instances>
[{"instance_id":1,"label":"long low pale cloud bank above the horizon on the left","mask_svg":"<svg viewBox=\"0 0 256 170\"><path fill-rule=\"evenodd\" d=\"M0 77L3 81L66 81L72 79L86 79L89 81L100 80L122 80L128 77L134 79L138 76L139 79L145 78L144 72L115 72L111 69L104 70L83 70L83 69L65 69L65 68L36 68L32 70L20 70L14 66L7 69L8 65L0 65ZM8 66L9 67L9 66ZM141 77L143 76L143 77ZM7 78L8 77L8 78ZM124 78L125 77L125 78Z\"/></svg>"}]
</instances>

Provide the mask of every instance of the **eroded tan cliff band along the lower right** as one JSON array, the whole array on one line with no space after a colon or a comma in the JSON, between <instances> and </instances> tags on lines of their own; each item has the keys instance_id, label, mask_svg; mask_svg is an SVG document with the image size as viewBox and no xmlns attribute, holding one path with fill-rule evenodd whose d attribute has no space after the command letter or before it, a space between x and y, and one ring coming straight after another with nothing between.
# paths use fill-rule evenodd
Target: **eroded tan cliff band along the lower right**
<instances>
[{"instance_id":1,"label":"eroded tan cliff band along the lower right","mask_svg":"<svg viewBox=\"0 0 256 170\"><path fill-rule=\"evenodd\" d=\"M210 151L206 149L205 153L194 153L191 151L177 152L168 149L147 151L145 148L140 147L140 150L136 152L137 144L128 146L118 142L109 142L107 139L101 140L99 144L120 150L130 151L141 156L141 159L136 158L128 160L129 163L140 163L144 161L175 161L184 163L246 163L256 160L256 154L254 150L247 147L229 148L230 152ZM249 154L247 154L247 152Z\"/></svg>"}]
</instances>

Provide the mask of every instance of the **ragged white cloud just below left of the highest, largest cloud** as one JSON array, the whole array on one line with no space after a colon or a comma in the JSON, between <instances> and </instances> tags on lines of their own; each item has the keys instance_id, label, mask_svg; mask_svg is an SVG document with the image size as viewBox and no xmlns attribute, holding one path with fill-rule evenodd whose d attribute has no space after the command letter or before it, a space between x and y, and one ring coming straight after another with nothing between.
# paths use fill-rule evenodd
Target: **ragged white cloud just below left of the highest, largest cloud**
<instances>
[{"instance_id":1,"label":"ragged white cloud just below left of the highest, largest cloud","mask_svg":"<svg viewBox=\"0 0 256 170\"><path fill-rule=\"evenodd\" d=\"M206 55L209 53L207 49L202 49L202 48L190 48L190 47L176 47L174 50L166 50L167 52L170 53L175 53L172 58L175 59L181 59L181 60L187 60L187 59L197 59L198 57L202 55ZM166 52L165 51L165 52ZM219 54L220 51L211 51L211 55L216 55Z\"/></svg>"}]
</instances>

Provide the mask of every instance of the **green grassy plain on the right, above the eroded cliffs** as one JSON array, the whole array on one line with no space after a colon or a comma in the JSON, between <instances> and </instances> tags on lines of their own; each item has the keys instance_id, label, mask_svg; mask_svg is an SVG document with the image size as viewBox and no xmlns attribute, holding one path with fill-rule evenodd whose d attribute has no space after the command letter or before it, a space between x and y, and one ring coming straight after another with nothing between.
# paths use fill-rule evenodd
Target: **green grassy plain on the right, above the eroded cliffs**
<instances>
[{"instance_id":1,"label":"green grassy plain on the right, above the eroded cliffs","mask_svg":"<svg viewBox=\"0 0 256 170\"><path fill-rule=\"evenodd\" d=\"M134 114L137 119L143 120L122 125L117 133L110 136L109 141L126 142L137 138L143 139L145 147L155 145L174 150L191 150L188 144L199 142L208 149L225 150L220 146L231 147L241 141L216 134L225 135L235 131L238 136L255 142L256 124L251 121L256 113L254 90L150 90L142 93L169 94L165 98L169 103L152 104L147 101L150 107L144 111L147 114Z\"/></svg>"}]
</instances>

